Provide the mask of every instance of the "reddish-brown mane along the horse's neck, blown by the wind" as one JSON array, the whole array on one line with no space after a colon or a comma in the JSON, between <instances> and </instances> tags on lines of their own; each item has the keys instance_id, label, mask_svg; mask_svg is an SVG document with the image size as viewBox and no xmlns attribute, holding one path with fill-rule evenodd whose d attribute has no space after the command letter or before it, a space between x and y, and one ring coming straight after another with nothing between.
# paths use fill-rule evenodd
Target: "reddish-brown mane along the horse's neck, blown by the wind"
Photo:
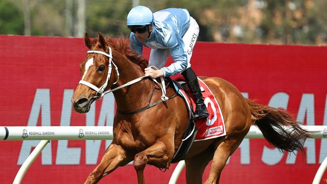
<instances>
[{"instance_id":1,"label":"reddish-brown mane along the horse's neck, blown by the wind","mask_svg":"<svg viewBox=\"0 0 327 184\"><path fill-rule=\"evenodd\" d=\"M97 39L94 40L97 43ZM106 43L117 52L121 53L125 57L127 57L133 63L139 65L141 69L144 69L148 66L148 60L145 59L143 56L138 57L138 53L136 51L131 51L129 47L129 42L127 39L120 37L120 38L106 38Z\"/></svg>"}]
</instances>

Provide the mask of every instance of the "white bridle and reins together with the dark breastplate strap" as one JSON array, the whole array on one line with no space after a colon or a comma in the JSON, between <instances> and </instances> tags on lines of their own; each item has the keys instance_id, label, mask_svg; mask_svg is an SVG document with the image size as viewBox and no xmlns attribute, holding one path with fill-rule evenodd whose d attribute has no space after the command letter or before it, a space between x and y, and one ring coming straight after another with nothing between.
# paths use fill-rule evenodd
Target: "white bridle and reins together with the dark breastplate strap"
<instances>
[{"instance_id":1,"label":"white bridle and reins together with the dark breastplate strap","mask_svg":"<svg viewBox=\"0 0 327 184\"><path fill-rule=\"evenodd\" d=\"M106 82L105 82L101 87L99 87L99 88L98 88L97 86L95 86L94 84L92 84L92 83L90 83L90 82L88 82L88 81L85 81L85 80L80 80L80 81L78 82L78 84L84 84L84 85L89 86L89 87L91 87L92 89L96 90L96 91L97 91L97 94L96 94L95 97L93 97L93 98L95 98L96 100L101 100L102 97L105 96L105 95L108 94L108 93L111 93L111 92L113 92L113 91L115 91L115 90L118 90L118 89L121 89L121 88L123 88L123 87L126 87L126 86L128 86L128 85L134 84L134 83L136 83L136 82L138 82L138 81L140 81L140 80L142 80L142 79L148 77L148 76L141 76L141 77L136 78L136 79L134 79L134 80L131 80L131 81L129 81L129 82L127 82L127 83L125 83L125 84L123 84L123 85L121 85L121 86L118 86L118 87L116 87L116 88L114 88L114 89L108 89L108 90L105 91L105 89L107 88L108 82L109 82L109 80L110 80L110 77L111 77L111 70L112 70L112 65L111 65L111 63L114 65L115 70L116 70L116 73L117 73L117 81L115 81L113 84L116 84L116 83L118 82L118 80L119 80L119 71L118 71L118 67L117 67L117 65L114 63L114 61L112 60L112 51L111 51L111 48L110 48L109 46L108 46L108 48L109 48L109 54L107 54L106 52L97 51L97 50L89 50L89 51L87 52L87 53L98 53L98 54L103 54L103 55L109 57L109 66L108 66L109 68L108 68L108 75L107 75L107 80L106 80ZM155 70L158 69L158 68L156 68L155 66L149 66L149 67L152 68L152 69L155 69ZM161 95L161 100L159 100L159 101L157 101L157 102L155 102L155 103L153 103L153 104L150 104L151 99L152 99L152 96L153 96L153 93L154 93L154 89L153 89L152 94L151 94L151 97L150 97L150 99L149 99L149 102L148 102L148 105L147 105L147 106L145 106L145 107L143 107L143 108L141 108L141 109L139 109L139 110L136 110L136 111L131 111L131 112L121 112L121 111L118 111L118 110L117 110L117 112L119 112L119 113L121 113L121 114L136 114L136 113L142 112L142 111L144 111L144 110L146 110L146 109L149 109L149 108L151 108L151 107L153 107L153 106L156 106L157 104L160 104L161 102L166 102L166 101L168 101L170 98L172 98L174 95L176 95L176 94L174 94L174 95L172 95L172 96L170 96L170 97L167 97L167 96L166 96L166 85L165 85L165 80L163 80L163 77L160 77L161 84L160 84L159 82L157 82L155 78L151 78L151 79L153 80L153 83L155 82L155 83L158 84L158 85L160 86L160 88L161 88L161 93L162 93L162 95Z\"/></svg>"}]
</instances>

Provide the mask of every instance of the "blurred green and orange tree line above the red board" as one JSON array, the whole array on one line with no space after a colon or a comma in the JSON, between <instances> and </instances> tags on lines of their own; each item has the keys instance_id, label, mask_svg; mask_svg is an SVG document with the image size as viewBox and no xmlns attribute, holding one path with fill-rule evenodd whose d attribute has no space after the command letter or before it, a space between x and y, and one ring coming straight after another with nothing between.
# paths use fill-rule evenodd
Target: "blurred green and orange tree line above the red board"
<instances>
[{"instance_id":1,"label":"blurred green and orange tree line above the red board","mask_svg":"<svg viewBox=\"0 0 327 184\"><path fill-rule=\"evenodd\" d=\"M127 37L126 17L138 4L188 9L199 41L327 44L325 0L2 0L0 34Z\"/></svg>"}]
</instances>

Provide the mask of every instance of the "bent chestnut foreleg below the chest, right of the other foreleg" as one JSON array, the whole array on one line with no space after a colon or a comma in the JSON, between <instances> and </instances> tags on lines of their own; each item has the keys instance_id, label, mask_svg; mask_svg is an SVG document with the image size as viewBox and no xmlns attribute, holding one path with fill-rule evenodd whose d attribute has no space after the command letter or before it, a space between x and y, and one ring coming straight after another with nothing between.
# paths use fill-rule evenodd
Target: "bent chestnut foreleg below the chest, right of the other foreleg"
<instances>
[{"instance_id":1,"label":"bent chestnut foreleg below the chest, right of the other foreleg","mask_svg":"<svg viewBox=\"0 0 327 184\"><path fill-rule=\"evenodd\" d=\"M139 152L134 157L134 168L137 173L139 184L144 184L144 168L146 163L151 163L157 167L168 168L168 156L166 145L158 141L142 152Z\"/></svg>"}]
</instances>

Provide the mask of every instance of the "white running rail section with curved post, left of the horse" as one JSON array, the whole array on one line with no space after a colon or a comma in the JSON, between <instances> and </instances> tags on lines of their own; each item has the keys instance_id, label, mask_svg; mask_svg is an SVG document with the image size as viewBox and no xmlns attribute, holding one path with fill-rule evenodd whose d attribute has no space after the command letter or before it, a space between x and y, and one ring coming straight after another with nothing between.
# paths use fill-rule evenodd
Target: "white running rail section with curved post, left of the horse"
<instances>
[{"instance_id":1,"label":"white running rail section with curved post, left of the horse","mask_svg":"<svg viewBox=\"0 0 327 184\"><path fill-rule=\"evenodd\" d=\"M49 140L108 140L113 139L112 126L42 126L0 127L0 140L41 140L22 164L13 184L20 184L26 171Z\"/></svg>"}]
</instances>

